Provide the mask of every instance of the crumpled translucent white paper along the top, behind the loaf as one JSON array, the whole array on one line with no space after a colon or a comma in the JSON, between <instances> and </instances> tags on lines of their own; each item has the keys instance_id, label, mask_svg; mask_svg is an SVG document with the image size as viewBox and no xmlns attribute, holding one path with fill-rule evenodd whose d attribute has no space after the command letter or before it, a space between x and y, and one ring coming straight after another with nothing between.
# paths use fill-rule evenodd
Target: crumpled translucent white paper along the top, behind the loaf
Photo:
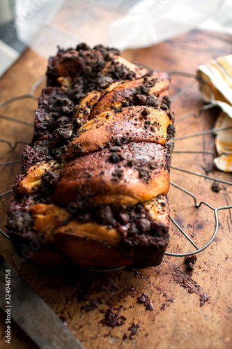
<instances>
[{"instance_id":1,"label":"crumpled translucent white paper along the top, behind the loaf","mask_svg":"<svg viewBox=\"0 0 232 349\"><path fill-rule=\"evenodd\" d=\"M23 43L49 57L80 42L146 47L204 23L232 34L231 10L231 0L16 0L15 25Z\"/></svg>"}]
</instances>

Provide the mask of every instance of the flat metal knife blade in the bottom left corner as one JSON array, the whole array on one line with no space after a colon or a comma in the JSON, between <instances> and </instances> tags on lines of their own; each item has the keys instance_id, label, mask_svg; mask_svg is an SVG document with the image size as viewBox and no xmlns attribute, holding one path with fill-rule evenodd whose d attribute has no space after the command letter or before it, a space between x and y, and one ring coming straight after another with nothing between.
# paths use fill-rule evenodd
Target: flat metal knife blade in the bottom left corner
<instances>
[{"instance_id":1,"label":"flat metal knife blade in the bottom left corner","mask_svg":"<svg viewBox=\"0 0 232 349\"><path fill-rule=\"evenodd\" d=\"M10 270L10 305L6 304L6 270ZM0 306L3 311L10 309L10 318L39 348L85 349L54 311L3 258L0 260Z\"/></svg>"}]
</instances>

